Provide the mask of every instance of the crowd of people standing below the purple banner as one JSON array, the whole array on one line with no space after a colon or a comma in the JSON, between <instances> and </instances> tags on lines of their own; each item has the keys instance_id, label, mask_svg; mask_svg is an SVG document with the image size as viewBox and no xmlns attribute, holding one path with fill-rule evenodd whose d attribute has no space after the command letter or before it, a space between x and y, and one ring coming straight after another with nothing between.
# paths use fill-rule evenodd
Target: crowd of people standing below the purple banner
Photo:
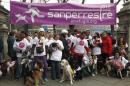
<instances>
[{"instance_id":1,"label":"crowd of people standing below the purple banner","mask_svg":"<svg viewBox=\"0 0 130 86\"><path fill-rule=\"evenodd\" d=\"M108 66L121 72L130 69L126 40L123 37L114 39L105 31L96 32L93 35L89 30L83 32L62 30L60 34L52 34L40 28L32 35L25 31L11 31L7 43L8 56L16 64L14 72L16 79L20 79L23 75L24 69L21 63L24 58L33 59L32 69L36 62L41 61L42 79L45 81L48 81L48 67L51 67L52 80L61 78L60 62L62 59L66 59L72 69L76 71L75 80L82 80L84 70L95 76L104 71L110 74ZM2 59L0 59L0 63L2 64ZM88 64L92 66L90 69L88 69Z\"/></svg>"}]
</instances>

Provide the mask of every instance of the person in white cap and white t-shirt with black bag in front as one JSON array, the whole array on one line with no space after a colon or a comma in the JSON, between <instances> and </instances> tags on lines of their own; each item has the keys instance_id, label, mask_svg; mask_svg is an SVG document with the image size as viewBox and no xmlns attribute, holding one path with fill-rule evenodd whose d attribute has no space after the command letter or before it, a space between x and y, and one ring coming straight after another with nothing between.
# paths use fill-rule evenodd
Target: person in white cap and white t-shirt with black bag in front
<instances>
[{"instance_id":1,"label":"person in white cap and white t-shirt with black bag in front","mask_svg":"<svg viewBox=\"0 0 130 86\"><path fill-rule=\"evenodd\" d=\"M44 37L44 29L40 28L38 36L35 36L33 39L33 45L32 45L32 54L34 54L34 61L42 61L43 62L43 79L45 81L47 80L47 57L46 57L46 48L45 48L46 40Z\"/></svg>"}]
</instances>

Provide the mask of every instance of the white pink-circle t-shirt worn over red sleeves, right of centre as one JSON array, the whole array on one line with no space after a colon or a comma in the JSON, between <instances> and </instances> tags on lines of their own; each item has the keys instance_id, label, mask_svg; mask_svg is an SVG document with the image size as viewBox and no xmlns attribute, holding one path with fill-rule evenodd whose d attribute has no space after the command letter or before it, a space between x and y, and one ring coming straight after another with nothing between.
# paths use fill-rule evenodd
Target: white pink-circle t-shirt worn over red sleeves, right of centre
<instances>
[{"instance_id":1,"label":"white pink-circle t-shirt worn over red sleeves, right of centre","mask_svg":"<svg viewBox=\"0 0 130 86\"><path fill-rule=\"evenodd\" d=\"M86 39L77 38L76 45L74 51L76 53L84 54L85 47L88 47L88 41Z\"/></svg>"}]
</instances>

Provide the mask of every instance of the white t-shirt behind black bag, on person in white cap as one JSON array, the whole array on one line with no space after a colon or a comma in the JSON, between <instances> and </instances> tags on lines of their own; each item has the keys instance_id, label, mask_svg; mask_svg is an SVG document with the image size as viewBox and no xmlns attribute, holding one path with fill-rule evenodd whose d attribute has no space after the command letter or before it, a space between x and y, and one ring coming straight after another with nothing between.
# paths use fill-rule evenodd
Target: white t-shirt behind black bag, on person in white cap
<instances>
[{"instance_id":1,"label":"white t-shirt behind black bag, on person in white cap","mask_svg":"<svg viewBox=\"0 0 130 86\"><path fill-rule=\"evenodd\" d=\"M39 43L43 43L43 50L44 50L44 51L43 51L42 53L40 53L40 54L36 52L36 47L41 46ZM33 44L36 45L36 47L35 47L35 49L34 49L34 56L44 56L44 55L46 55L46 49L45 49L46 40L45 40L44 37L41 37L40 40L38 39L38 37L35 37L35 38L33 39Z\"/></svg>"}]
</instances>

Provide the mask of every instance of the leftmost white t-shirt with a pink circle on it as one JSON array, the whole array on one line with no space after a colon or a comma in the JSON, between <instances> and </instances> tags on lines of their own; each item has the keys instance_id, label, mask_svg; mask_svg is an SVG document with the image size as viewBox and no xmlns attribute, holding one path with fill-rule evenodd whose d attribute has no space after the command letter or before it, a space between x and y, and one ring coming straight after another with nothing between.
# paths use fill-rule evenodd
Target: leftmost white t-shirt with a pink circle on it
<instances>
[{"instance_id":1,"label":"leftmost white t-shirt with a pink circle on it","mask_svg":"<svg viewBox=\"0 0 130 86\"><path fill-rule=\"evenodd\" d=\"M25 38L21 41L15 41L13 45L14 49L22 50L22 52L24 52L28 47L31 47L31 43L29 43ZM16 56L22 57L22 53L16 52Z\"/></svg>"}]
</instances>

